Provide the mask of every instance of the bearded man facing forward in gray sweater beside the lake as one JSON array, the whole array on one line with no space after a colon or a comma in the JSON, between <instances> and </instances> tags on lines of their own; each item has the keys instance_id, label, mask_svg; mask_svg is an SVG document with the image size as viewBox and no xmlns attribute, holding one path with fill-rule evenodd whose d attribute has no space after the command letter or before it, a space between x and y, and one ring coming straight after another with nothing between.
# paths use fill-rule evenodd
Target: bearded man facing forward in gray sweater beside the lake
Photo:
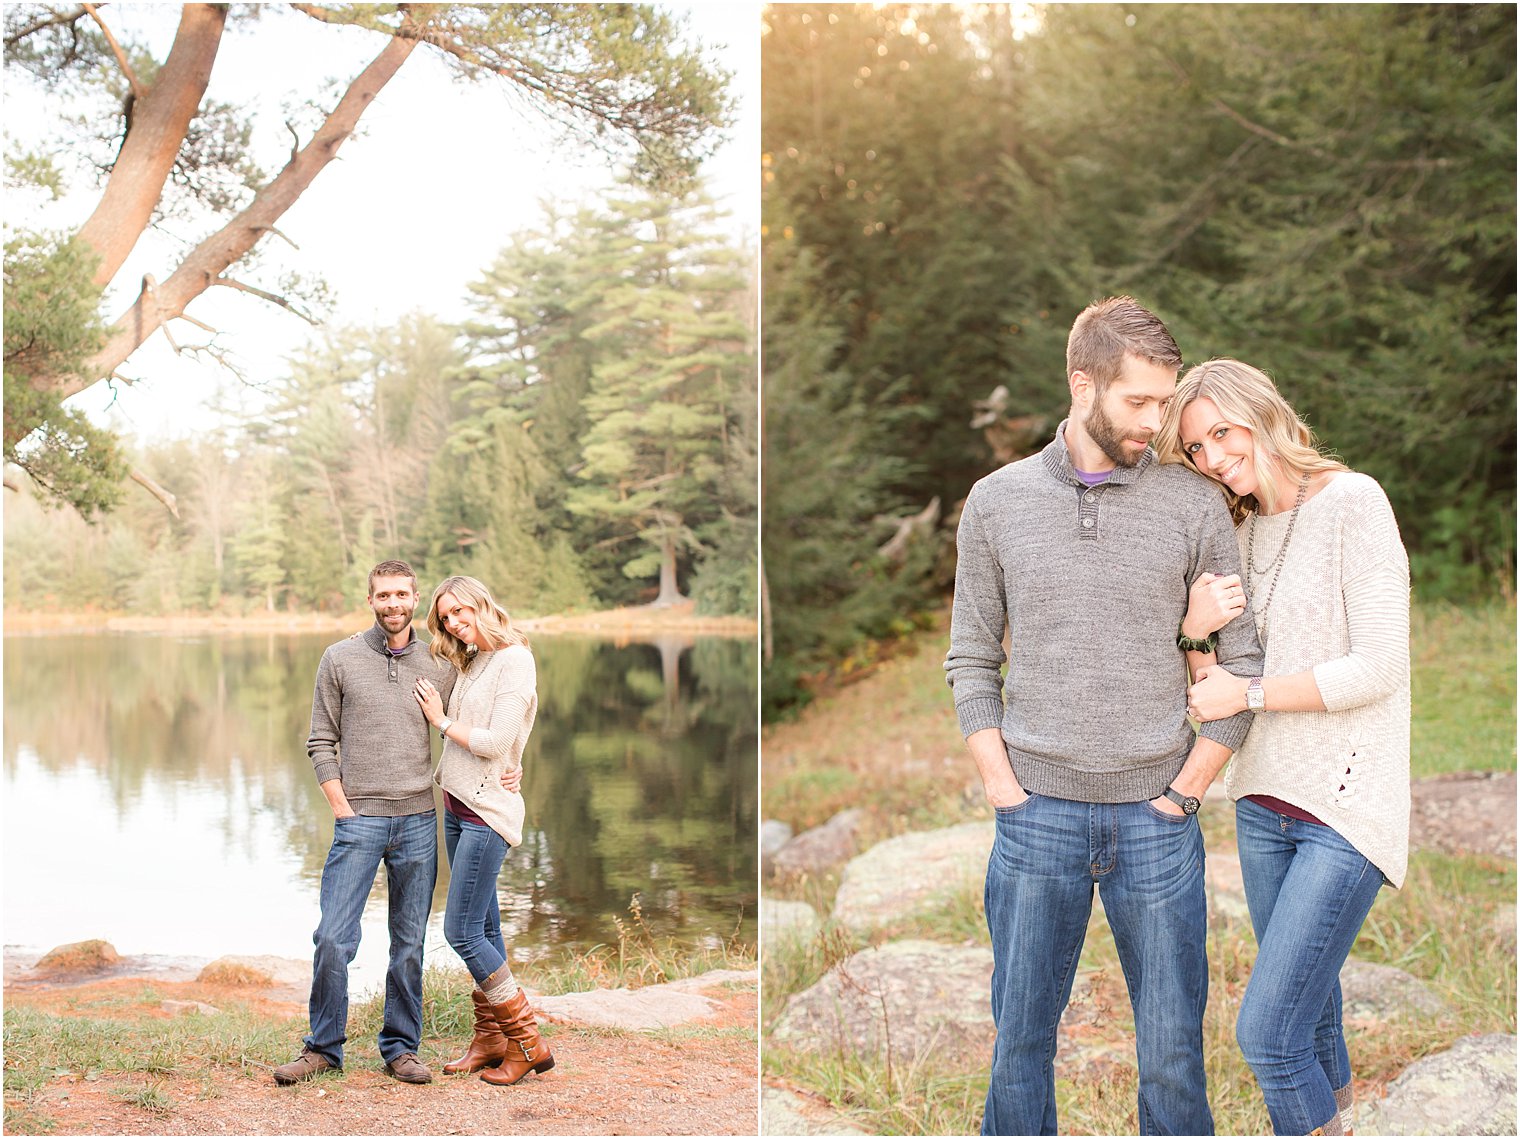
<instances>
[{"instance_id":1,"label":"bearded man facing forward in gray sweater beside the lake","mask_svg":"<svg viewBox=\"0 0 1520 1139\"><path fill-rule=\"evenodd\" d=\"M312 1033L301 1055L275 1069L293 1084L344 1066L348 964L380 862L386 867L391 964L386 970L380 1055L385 1071L410 1084L432 1072L416 1058L423 1034L423 935L438 879L432 750L412 689L418 677L445 704L454 669L435 662L412 630L416 575L404 561L369 570L375 623L330 645L316 669L312 734L316 780L333 807L333 847L322 867L322 917L312 940Z\"/></svg>"}]
</instances>

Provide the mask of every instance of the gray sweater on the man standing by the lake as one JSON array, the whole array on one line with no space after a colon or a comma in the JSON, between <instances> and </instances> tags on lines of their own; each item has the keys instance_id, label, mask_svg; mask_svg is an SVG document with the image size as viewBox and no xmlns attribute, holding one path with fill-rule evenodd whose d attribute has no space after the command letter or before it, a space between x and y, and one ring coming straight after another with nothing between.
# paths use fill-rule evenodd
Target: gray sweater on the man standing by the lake
<instances>
[{"instance_id":1,"label":"gray sweater on the man standing by the lake","mask_svg":"<svg viewBox=\"0 0 1520 1139\"><path fill-rule=\"evenodd\" d=\"M360 815L416 815L433 809L433 753L427 718L412 690L418 677L438 686L444 704L459 674L412 640L386 648L378 622L363 636L328 645L316 666L312 734L306 754L316 782L340 779Z\"/></svg>"}]
</instances>

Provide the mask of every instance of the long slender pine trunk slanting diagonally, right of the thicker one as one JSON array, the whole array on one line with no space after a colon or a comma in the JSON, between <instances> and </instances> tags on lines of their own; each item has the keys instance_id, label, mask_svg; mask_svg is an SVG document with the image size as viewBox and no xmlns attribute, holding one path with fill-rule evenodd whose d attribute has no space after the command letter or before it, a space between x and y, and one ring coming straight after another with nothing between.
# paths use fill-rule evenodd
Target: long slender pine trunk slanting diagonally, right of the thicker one
<instances>
[{"instance_id":1,"label":"long slender pine trunk slanting diagonally, right of the thicker one","mask_svg":"<svg viewBox=\"0 0 1520 1139\"><path fill-rule=\"evenodd\" d=\"M350 84L312 141L258 192L252 204L192 249L169 280L143 289L132 307L111 325L105 347L90 357L82 374L43 376L33 380L33 386L52 388L68 397L106 379L160 325L179 316L190 301L216 284L216 278L248 254L306 192L322 167L337 157L337 148L353 134L365 108L406 62L413 47L416 47L415 40L392 38Z\"/></svg>"}]
</instances>

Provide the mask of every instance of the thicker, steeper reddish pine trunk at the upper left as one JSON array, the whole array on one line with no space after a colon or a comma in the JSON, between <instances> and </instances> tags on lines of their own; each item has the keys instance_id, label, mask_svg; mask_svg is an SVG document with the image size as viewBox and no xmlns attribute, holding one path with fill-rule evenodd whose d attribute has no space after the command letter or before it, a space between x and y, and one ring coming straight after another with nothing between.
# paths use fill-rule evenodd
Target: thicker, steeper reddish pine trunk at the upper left
<instances>
[{"instance_id":1,"label":"thicker, steeper reddish pine trunk at the upper left","mask_svg":"<svg viewBox=\"0 0 1520 1139\"><path fill-rule=\"evenodd\" d=\"M225 5L185 5L169 58L152 85L132 102L131 125L105 193L79 230L79 240L100 254L94 283L102 287L116 277L154 217L154 207L211 82L211 64L225 26Z\"/></svg>"}]
</instances>

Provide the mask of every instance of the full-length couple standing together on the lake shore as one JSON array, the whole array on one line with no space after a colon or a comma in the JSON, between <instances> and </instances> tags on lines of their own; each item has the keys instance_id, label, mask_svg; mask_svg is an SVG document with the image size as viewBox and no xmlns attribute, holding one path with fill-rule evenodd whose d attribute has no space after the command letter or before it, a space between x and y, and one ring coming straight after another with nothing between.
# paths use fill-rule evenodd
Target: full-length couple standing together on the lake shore
<instances>
[{"instance_id":1,"label":"full-length couple standing together on the lake shore","mask_svg":"<svg viewBox=\"0 0 1520 1139\"><path fill-rule=\"evenodd\" d=\"M333 847L312 938L312 1033L301 1055L275 1069L275 1083L344 1066L348 963L382 861L391 966L380 1055L397 1080L432 1081L416 1049L423 937L438 877L438 783L450 870L444 935L476 981L474 1039L444 1072L480 1071L488 1083L515 1084L555 1066L506 963L496 896L508 847L523 841L523 747L538 712L534 655L506 610L474 578L447 578L433 590L426 646L412 630L410 566L382 561L369 570L368 601L374 627L331 645L316 669L306 750L333 807ZM429 727L444 741L436 771Z\"/></svg>"}]
</instances>

